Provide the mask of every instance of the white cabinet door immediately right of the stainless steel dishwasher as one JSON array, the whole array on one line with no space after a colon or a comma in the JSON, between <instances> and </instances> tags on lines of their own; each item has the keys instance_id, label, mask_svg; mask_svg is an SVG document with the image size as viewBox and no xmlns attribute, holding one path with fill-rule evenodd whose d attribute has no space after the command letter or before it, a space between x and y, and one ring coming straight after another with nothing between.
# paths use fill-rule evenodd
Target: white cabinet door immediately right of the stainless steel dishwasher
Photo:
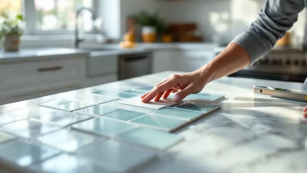
<instances>
[{"instance_id":1,"label":"white cabinet door immediately right of the stainless steel dishwasher","mask_svg":"<svg viewBox=\"0 0 307 173\"><path fill-rule=\"evenodd\" d=\"M175 70L175 52L172 51L155 51L153 52L153 73L167 70Z\"/></svg>"}]
</instances>

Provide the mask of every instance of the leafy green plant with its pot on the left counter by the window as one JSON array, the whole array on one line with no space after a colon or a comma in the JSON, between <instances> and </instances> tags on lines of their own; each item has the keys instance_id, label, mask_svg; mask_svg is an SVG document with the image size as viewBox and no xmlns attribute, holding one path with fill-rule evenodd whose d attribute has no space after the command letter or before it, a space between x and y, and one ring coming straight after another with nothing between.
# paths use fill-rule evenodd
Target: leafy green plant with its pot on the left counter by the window
<instances>
[{"instance_id":1,"label":"leafy green plant with its pot on the left counter by the window","mask_svg":"<svg viewBox=\"0 0 307 173\"><path fill-rule=\"evenodd\" d=\"M24 18L18 14L11 18L5 12L1 13L3 22L0 24L0 40L3 38L4 51L19 51L20 49L20 36L23 34L21 27Z\"/></svg>"}]
</instances>

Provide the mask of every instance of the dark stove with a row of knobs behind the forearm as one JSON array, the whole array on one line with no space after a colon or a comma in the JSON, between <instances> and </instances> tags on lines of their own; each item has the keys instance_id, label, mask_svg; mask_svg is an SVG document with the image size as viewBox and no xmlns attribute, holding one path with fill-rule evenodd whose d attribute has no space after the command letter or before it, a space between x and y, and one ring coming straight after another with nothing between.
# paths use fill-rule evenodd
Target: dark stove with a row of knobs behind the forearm
<instances>
[{"instance_id":1,"label":"dark stove with a row of knobs behind the forearm","mask_svg":"<svg viewBox=\"0 0 307 173\"><path fill-rule=\"evenodd\" d=\"M223 50L220 47L216 50ZM216 55L220 53L216 51ZM270 53L230 77L304 82L307 77L306 51L303 47L275 46Z\"/></svg>"}]
</instances>

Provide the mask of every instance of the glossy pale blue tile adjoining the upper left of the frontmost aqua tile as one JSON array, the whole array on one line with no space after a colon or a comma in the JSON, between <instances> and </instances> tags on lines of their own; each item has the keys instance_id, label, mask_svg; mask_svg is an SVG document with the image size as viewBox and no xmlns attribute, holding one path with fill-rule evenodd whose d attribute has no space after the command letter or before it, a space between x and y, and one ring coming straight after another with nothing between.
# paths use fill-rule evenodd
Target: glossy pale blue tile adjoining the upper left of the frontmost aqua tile
<instances>
[{"instance_id":1,"label":"glossy pale blue tile adjoining the upper left of the frontmost aqua tile","mask_svg":"<svg viewBox=\"0 0 307 173\"><path fill-rule=\"evenodd\" d=\"M91 120L86 120L77 124L73 124L71 127L77 130L82 130L97 135L111 137L117 133L134 128L135 126L99 117Z\"/></svg>"}]
</instances>

